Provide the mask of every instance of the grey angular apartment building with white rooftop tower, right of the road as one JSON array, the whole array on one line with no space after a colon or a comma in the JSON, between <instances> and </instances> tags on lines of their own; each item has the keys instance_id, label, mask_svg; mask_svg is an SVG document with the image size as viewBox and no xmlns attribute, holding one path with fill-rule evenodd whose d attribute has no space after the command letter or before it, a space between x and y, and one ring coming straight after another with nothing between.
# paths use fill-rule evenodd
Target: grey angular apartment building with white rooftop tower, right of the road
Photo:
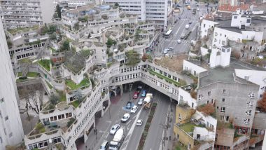
<instances>
[{"instance_id":1,"label":"grey angular apartment building with white rooftop tower, right of the road","mask_svg":"<svg viewBox=\"0 0 266 150\"><path fill-rule=\"evenodd\" d=\"M265 69L230 60L230 53L231 48L223 46L211 50L209 64L184 60L183 70L197 76L197 84L179 88L179 103L186 102L189 109L214 106L218 121L214 149L248 149L261 143L265 134L266 114L255 107L263 81L258 72ZM251 76L255 72L257 80Z\"/></svg>"}]
</instances>

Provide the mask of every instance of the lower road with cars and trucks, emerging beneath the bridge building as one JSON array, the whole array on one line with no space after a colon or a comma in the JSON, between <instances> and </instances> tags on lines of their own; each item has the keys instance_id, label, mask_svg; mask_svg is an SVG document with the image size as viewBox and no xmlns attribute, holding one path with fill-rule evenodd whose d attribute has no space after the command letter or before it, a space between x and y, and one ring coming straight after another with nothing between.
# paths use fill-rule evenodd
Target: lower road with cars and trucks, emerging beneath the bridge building
<instances>
[{"instance_id":1,"label":"lower road with cars and trucks, emerging beneath the bridge building","mask_svg":"<svg viewBox=\"0 0 266 150\"><path fill-rule=\"evenodd\" d=\"M136 88L137 88L137 83L135 83L132 88L132 95ZM161 94L160 92L156 91L153 88L149 88L148 86L146 86L146 88L144 89L147 90L147 93L153 93L153 100L155 102L158 102L158 107L155 111L155 116L151 123L151 127L148 132L144 149L155 149L155 147L157 147L158 149L158 147L160 147L160 144L162 143L161 139L164 130L163 125L167 121L166 116L167 112L170 110L169 108L171 102L169 100L169 97ZM127 123L121 123L120 118L122 118L123 114L130 113L130 111L124 108L128 100L129 100L128 89L126 91L124 90L124 94L122 96L118 96L115 99L111 100L110 115L109 111L106 111L104 116L102 118L97 119L96 121L97 135L95 135L94 132L91 132L86 144L80 146L79 149L85 149L85 146L87 146L87 149L90 150L99 149L99 146L102 144L104 140L110 142L113 139L113 135L109 134L109 130L111 129L112 125L118 123L121 126L125 127L126 130L125 141L123 142L123 145L121 146L120 149L137 150L141 134L144 130L144 126L148 118L149 110L143 110L142 107L139 106L139 110L136 112L136 114L130 114L130 120L127 121ZM134 104L137 104L138 100L139 99L132 100L132 102ZM175 109L175 107L173 107L173 109ZM136 126L136 122L138 119L144 120L142 126Z\"/></svg>"}]
</instances>

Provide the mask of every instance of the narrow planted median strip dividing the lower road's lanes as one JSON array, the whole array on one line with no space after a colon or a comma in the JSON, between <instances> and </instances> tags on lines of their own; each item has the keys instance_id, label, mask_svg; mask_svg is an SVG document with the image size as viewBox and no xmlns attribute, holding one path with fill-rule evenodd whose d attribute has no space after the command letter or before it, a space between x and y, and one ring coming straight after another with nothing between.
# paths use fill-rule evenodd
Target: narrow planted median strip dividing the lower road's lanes
<instances>
[{"instance_id":1,"label":"narrow planted median strip dividing the lower road's lanes","mask_svg":"<svg viewBox=\"0 0 266 150\"><path fill-rule=\"evenodd\" d=\"M145 124L144 132L142 132L141 139L139 141L138 150L144 149L144 144L145 144L146 138L148 136L148 130L149 130L150 126L151 126L151 121L153 120L153 116L155 114L156 107L157 107L157 103L154 102L152 104L151 111L148 114L148 120L147 120L147 122Z\"/></svg>"}]
</instances>

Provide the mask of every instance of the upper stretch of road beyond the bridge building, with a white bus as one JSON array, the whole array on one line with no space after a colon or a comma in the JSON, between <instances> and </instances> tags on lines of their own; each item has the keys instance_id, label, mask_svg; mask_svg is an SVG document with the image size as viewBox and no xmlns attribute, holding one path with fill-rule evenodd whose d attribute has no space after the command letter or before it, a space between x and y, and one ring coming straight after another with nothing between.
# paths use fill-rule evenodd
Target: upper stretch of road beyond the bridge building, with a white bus
<instances>
[{"instance_id":1,"label":"upper stretch of road beyond the bridge building, with a white bus","mask_svg":"<svg viewBox=\"0 0 266 150\"><path fill-rule=\"evenodd\" d=\"M169 23L168 29L172 29L172 35L166 39L163 36L160 36L158 48L155 48L155 56L162 56L162 52L165 48L173 47L174 50L169 51L169 55L184 53L188 50L188 44L191 40L195 40L198 32L199 18L200 15L206 13L207 7L204 4L195 4L193 1L189 6L191 10L188 10L185 5L180 4L182 6L180 14L174 13L172 20L178 20L174 25L172 22ZM197 11L195 15L193 15L193 8L199 8L200 11ZM189 25L189 22L192 22ZM189 25L189 29L185 29L186 25ZM188 34L191 31L188 39L181 39L181 34ZM181 43L177 43L178 40L181 40Z\"/></svg>"}]
</instances>

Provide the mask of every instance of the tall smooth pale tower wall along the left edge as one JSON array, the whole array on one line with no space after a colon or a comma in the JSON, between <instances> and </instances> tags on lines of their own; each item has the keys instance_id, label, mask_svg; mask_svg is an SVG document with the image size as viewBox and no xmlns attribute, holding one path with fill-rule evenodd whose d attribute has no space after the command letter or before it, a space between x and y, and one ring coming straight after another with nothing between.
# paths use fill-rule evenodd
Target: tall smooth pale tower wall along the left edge
<instances>
[{"instance_id":1,"label":"tall smooth pale tower wall along the left edge","mask_svg":"<svg viewBox=\"0 0 266 150\"><path fill-rule=\"evenodd\" d=\"M24 132L18 110L18 90L8 56L6 36L0 19L0 149L22 142Z\"/></svg>"}]
</instances>

